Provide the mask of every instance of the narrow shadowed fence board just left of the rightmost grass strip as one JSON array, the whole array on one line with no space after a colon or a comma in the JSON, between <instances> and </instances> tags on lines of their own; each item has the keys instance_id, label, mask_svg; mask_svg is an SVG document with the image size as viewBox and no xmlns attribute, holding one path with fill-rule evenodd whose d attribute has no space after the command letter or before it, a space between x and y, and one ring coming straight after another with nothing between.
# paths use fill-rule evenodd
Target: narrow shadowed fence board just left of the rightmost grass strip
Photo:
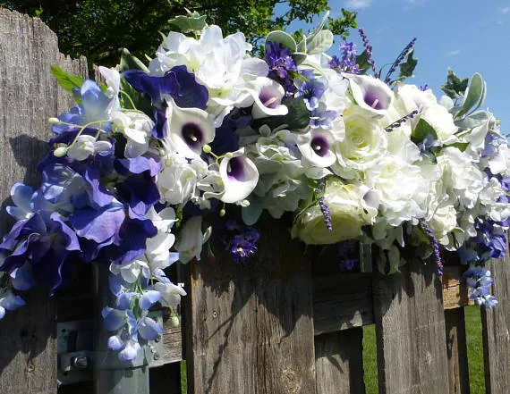
<instances>
[{"instance_id":1,"label":"narrow shadowed fence board just left of the rightmost grass strip","mask_svg":"<svg viewBox=\"0 0 510 394\"><path fill-rule=\"evenodd\" d=\"M469 370L464 309L447 309L445 311L445 322L449 393L469 394Z\"/></svg>"}]
</instances>

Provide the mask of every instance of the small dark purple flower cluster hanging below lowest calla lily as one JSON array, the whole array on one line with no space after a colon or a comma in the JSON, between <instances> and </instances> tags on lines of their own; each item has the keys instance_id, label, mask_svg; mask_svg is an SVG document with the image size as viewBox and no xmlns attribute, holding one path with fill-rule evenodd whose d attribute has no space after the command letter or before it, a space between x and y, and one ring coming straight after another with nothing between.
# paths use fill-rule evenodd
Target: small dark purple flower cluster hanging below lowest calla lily
<instances>
[{"instance_id":1,"label":"small dark purple flower cluster hanging below lowest calla lily","mask_svg":"<svg viewBox=\"0 0 510 394\"><path fill-rule=\"evenodd\" d=\"M257 229L229 219L225 222L225 230L226 234L223 239L225 250L234 256L235 261L245 262L259 250L257 241L260 233Z\"/></svg>"}]
</instances>

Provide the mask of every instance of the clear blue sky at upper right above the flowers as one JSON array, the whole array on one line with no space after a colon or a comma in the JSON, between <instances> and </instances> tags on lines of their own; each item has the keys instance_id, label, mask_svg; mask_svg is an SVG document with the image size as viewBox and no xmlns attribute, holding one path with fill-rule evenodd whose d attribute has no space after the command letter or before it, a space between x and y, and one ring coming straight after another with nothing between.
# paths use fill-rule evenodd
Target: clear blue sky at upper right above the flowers
<instances>
[{"instance_id":1,"label":"clear blue sky at upper right above the flowers","mask_svg":"<svg viewBox=\"0 0 510 394\"><path fill-rule=\"evenodd\" d=\"M419 62L407 81L428 84L438 97L448 66L460 77L479 72L488 87L484 106L501 119L502 133L510 134L510 0L329 0L329 6L332 16L342 7L358 12L378 67L393 63L418 38ZM349 39L361 53L358 33Z\"/></svg>"}]
</instances>

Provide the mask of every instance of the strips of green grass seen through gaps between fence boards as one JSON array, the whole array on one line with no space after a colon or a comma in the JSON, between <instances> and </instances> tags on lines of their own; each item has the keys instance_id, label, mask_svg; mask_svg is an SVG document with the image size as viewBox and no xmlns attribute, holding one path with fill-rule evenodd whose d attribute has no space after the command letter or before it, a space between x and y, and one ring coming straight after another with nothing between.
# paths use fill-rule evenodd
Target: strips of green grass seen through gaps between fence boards
<instances>
[{"instance_id":1,"label":"strips of green grass seen through gaps between fence boards","mask_svg":"<svg viewBox=\"0 0 510 394\"><path fill-rule=\"evenodd\" d=\"M483 394L485 392L485 381L483 376L480 308L478 306L466 306L464 314L471 394ZM363 369L365 372L366 394L378 394L378 360L376 328L374 325L363 327Z\"/></svg>"}]
</instances>

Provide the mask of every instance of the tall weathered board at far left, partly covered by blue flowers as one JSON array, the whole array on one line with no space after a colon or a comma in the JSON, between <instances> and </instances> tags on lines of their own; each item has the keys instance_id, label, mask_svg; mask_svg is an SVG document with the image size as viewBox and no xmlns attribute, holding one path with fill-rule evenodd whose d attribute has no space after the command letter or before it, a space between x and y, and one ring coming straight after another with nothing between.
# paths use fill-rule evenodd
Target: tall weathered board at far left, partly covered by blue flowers
<instances>
[{"instance_id":1,"label":"tall weathered board at far left, partly covered by blue flowers","mask_svg":"<svg viewBox=\"0 0 510 394\"><path fill-rule=\"evenodd\" d=\"M84 59L72 62L59 54L57 39L38 19L0 9L0 234L13 221L4 207L17 180L35 185L36 164L46 155L47 118L69 109L71 97L51 75L50 64L86 72ZM25 293L27 306L0 322L0 392L55 394L55 302L45 289Z\"/></svg>"}]
</instances>

